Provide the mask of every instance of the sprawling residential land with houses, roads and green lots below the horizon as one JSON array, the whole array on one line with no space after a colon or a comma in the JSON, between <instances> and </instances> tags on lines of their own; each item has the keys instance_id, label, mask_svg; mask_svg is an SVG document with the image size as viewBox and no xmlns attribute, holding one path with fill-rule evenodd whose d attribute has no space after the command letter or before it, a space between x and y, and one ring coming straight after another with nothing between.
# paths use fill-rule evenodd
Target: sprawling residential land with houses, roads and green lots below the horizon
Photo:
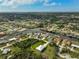
<instances>
[{"instance_id":1,"label":"sprawling residential land with houses, roads and green lots below the horizon","mask_svg":"<svg viewBox=\"0 0 79 59\"><path fill-rule=\"evenodd\" d=\"M10 20L10 15L16 18ZM53 13L19 15L2 15L7 20L0 22L0 59L79 59L77 19Z\"/></svg>"}]
</instances>

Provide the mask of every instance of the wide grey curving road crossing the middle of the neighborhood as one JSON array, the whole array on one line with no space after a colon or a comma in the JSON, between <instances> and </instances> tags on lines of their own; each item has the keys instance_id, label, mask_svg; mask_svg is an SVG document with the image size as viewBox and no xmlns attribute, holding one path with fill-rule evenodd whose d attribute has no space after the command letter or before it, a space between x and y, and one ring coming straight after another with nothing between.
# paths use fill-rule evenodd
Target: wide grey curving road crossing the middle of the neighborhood
<instances>
[{"instance_id":1,"label":"wide grey curving road crossing the middle of the neighborhood","mask_svg":"<svg viewBox=\"0 0 79 59\"><path fill-rule=\"evenodd\" d=\"M15 37L15 36L17 36L17 35L26 34L26 33L29 33L29 32L46 32L46 31L40 30L40 28L26 29L26 30L24 30L24 31L12 31L11 34L8 34L8 35L6 35L6 36L0 38L0 43L8 42L8 40L9 40L10 38L13 38L13 37ZM47 33L50 33L50 32L48 31ZM59 35L59 36L61 36L62 38L72 39L72 38L69 38L68 36L63 36L63 35L61 35L61 34L56 34L56 33L53 33L53 32L51 32L50 34L52 34L52 35L54 35L54 34L55 34L55 35Z\"/></svg>"}]
</instances>

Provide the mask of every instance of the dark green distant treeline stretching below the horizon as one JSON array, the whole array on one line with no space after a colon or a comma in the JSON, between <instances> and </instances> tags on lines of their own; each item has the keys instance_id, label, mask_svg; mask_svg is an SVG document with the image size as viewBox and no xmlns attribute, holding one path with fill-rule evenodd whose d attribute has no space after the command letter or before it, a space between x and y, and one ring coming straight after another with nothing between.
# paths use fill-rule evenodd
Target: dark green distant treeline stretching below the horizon
<instances>
[{"instance_id":1,"label":"dark green distant treeline stretching below the horizon","mask_svg":"<svg viewBox=\"0 0 79 59\"><path fill-rule=\"evenodd\" d=\"M67 18L71 15L78 16L79 13L52 13L52 12L16 12L16 13L0 13L0 21L4 20L27 20L27 19L40 19L40 20L51 20L56 19L59 16L66 16ZM59 19L59 18L58 18Z\"/></svg>"}]
</instances>

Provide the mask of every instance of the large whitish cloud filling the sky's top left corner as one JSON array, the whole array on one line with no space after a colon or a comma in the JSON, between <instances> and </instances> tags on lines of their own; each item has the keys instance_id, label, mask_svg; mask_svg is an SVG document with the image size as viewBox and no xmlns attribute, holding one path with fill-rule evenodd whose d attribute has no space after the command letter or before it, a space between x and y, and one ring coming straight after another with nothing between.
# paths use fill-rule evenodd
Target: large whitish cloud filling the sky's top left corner
<instances>
[{"instance_id":1,"label":"large whitish cloud filling the sky's top left corner","mask_svg":"<svg viewBox=\"0 0 79 59\"><path fill-rule=\"evenodd\" d=\"M33 4L37 0L0 0L2 6L15 6L20 4Z\"/></svg>"}]
</instances>

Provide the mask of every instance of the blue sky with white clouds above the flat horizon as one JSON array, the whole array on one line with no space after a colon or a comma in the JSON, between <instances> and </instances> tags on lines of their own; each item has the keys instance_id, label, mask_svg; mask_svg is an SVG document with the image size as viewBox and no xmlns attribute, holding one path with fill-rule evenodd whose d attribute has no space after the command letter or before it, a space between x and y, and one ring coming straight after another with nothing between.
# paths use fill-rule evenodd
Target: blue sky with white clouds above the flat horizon
<instances>
[{"instance_id":1,"label":"blue sky with white clouds above the flat horizon","mask_svg":"<svg viewBox=\"0 0 79 59\"><path fill-rule=\"evenodd\" d=\"M79 12L79 0L0 0L0 12Z\"/></svg>"}]
</instances>

